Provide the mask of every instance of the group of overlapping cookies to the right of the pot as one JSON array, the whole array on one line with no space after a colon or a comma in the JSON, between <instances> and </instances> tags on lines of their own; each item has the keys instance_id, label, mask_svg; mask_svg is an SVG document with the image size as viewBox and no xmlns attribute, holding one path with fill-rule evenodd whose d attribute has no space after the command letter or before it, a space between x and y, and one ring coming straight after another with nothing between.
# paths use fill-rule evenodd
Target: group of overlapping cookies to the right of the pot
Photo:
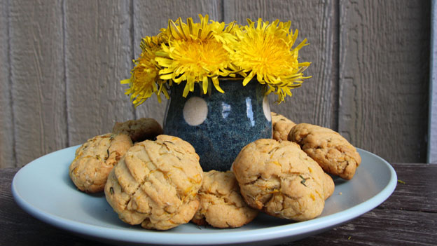
<instances>
[{"instance_id":1,"label":"group of overlapping cookies to the right of the pot","mask_svg":"<svg viewBox=\"0 0 437 246\"><path fill-rule=\"evenodd\" d=\"M244 200L275 217L304 221L321 214L335 187L331 176L352 179L359 153L333 130L296 124L272 113L274 139L245 146L233 163Z\"/></svg>"}]
</instances>

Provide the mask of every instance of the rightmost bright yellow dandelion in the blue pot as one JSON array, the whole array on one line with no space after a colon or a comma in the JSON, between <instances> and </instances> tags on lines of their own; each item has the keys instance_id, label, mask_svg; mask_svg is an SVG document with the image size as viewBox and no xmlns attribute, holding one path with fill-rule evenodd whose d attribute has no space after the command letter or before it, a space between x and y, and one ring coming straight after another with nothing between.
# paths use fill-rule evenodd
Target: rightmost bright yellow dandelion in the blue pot
<instances>
[{"instance_id":1,"label":"rightmost bright yellow dandelion in the blue pot","mask_svg":"<svg viewBox=\"0 0 437 246\"><path fill-rule=\"evenodd\" d=\"M241 69L243 85L256 76L259 83L268 86L267 93L278 95L280 103L286 95L291 96L291 89L310 78L303 76L310 62L298 62L298 51L308 44L307 39L293 48L298 31L290 32L291 22L275 20L270 24L260 18L255 27L255 22L247 21L249 26L236 29L236 39L228 39L224 45L235 66Z\"/></svg>"}]
</instances>

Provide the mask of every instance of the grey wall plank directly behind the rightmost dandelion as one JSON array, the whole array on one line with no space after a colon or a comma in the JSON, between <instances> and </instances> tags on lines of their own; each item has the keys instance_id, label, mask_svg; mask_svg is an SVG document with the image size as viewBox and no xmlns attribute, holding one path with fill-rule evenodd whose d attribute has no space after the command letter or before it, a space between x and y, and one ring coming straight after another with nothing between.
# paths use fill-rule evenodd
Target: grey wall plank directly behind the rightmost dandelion
<instances>
[{"instance_id":1,"label":"grey wall plank directly behind the rightmost dandelion","mask_svg":"<svg viewBox=\"0 0 437 246\"><path fill-rule=\"evenodd\" d=\"M312 78L303 86L292 90L293 97L282 104L275 104L275 95L270 95L270 108L297 123L313 123L328 128L337 128L337 82L336 46L338 27L335 25L335 1L239 1L223 2L225 21L237 20L246 25L251 20L283 22L291 20L291 29L298 29L296 43L307 38L310 46L300 50L299 61L312 62L305 72ZM296 44L296 45L297 45Z\"/></svg>"}]
</instances>

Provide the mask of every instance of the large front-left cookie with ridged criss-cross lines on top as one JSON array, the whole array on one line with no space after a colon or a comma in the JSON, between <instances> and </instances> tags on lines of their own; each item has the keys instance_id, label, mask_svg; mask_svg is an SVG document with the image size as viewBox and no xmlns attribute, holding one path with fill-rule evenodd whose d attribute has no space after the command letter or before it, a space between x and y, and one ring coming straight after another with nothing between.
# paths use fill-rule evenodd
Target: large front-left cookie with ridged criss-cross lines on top
<instances>
[{"instance_id":1,"label":"large front-left cookie with ridged criss-cross lines on top","mask_svg":"<svg viewBox=\"0 0 437 246\"><path fill-rule=\"evenodd\" d=\"M202 185L202 168L193 146L159 135L137 142L109 174L105 196L127 224L167 230L193 218Z\"/></svg>"}]
</instances>

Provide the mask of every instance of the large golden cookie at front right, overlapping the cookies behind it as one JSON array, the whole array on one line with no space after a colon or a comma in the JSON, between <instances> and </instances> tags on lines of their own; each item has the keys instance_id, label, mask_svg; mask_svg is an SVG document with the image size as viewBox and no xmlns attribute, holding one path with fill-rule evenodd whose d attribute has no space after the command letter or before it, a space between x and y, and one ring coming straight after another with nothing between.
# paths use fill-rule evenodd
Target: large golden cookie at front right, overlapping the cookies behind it
<instances>
[{"instance_id":1,"label":"large golden cookie at front right, overlapping the cookies behind it","mask_svg":"<svg viewBox=\"0 0 437 246\"><path fill-rule=\"evenodd\" d=\"M244 200L272 216L304 221L324 209L325 173L296 143L258 139L240 151L233 171Z\"/></svg>"}]
</instances>

